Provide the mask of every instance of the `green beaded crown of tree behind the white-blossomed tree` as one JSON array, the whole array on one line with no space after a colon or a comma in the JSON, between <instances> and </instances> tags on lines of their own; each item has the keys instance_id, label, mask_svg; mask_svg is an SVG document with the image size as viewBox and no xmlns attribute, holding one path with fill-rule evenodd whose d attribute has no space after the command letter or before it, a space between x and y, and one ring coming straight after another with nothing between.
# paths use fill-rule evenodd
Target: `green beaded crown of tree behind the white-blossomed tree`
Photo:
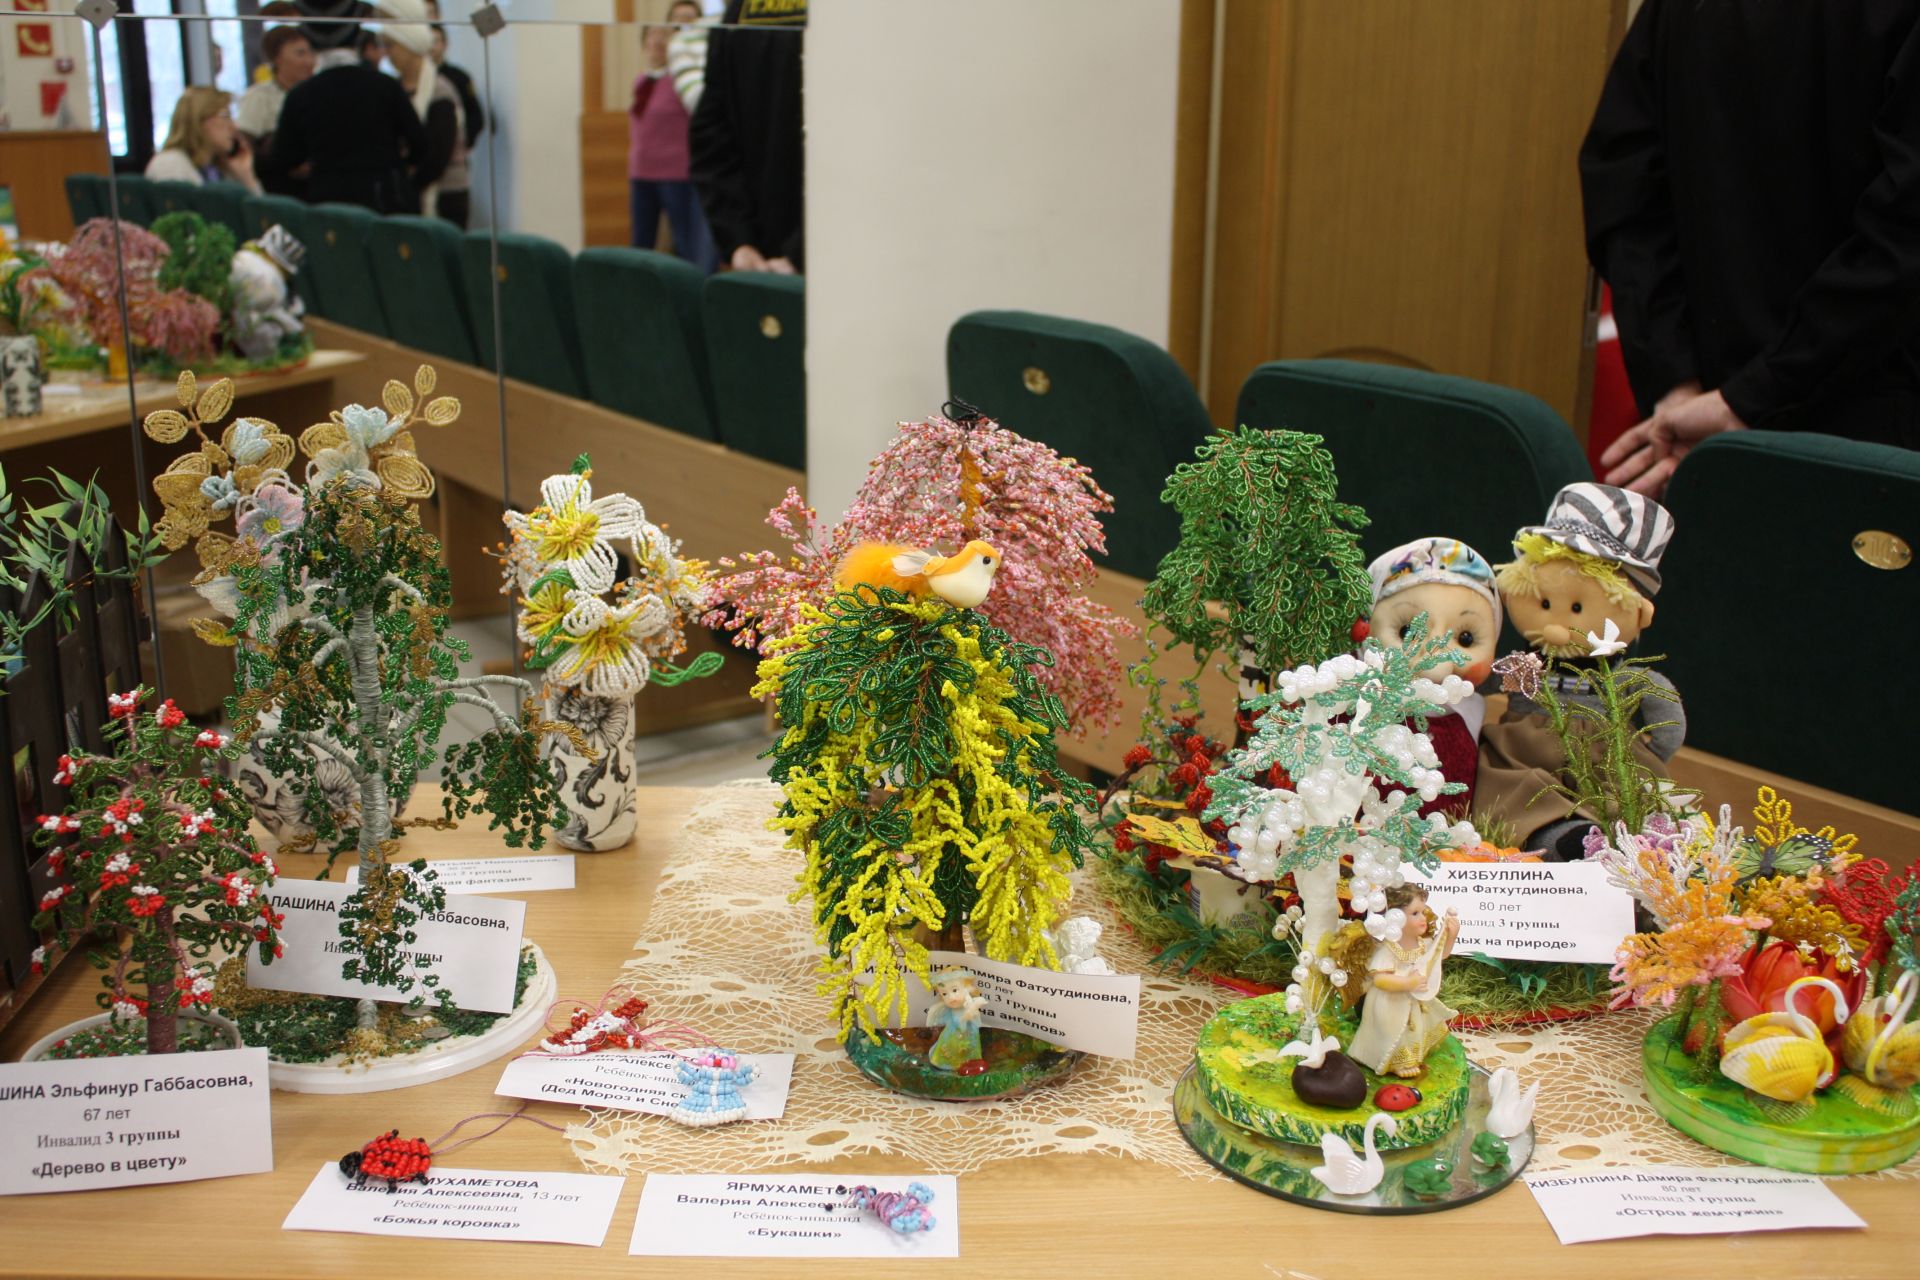
<instances>
[{"instance_id":1,"label":"green beaded crown of tree behind the white-blossomed tree","mask_svg":"<svg viewBox=\"0 0 1920 1280\"><path fill-rule=\"evenodd\" d=\"M1336 499L1319 436L1221 432L1173 468L1160 501L1181 512L1181 541L1140 608L1202 664L1238 649L1277 672L1348 647L1373 606L1367 512Z\"/></svg>"}]
</instances>

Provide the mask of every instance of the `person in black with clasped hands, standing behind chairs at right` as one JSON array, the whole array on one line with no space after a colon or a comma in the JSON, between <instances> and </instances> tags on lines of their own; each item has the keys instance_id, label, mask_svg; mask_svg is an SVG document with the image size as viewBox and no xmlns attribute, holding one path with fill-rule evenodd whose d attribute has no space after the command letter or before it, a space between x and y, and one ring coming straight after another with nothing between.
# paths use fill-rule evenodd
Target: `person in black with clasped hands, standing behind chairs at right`
<instances>
[{"instance_id":1,"label":"person in black with clasped hands, standing behind chairs at right","mask_svg":"<svg viewBox=\"0 0 1920 1280\"><path fill-rule=\"evenodd\" d=\"M1661 493L1747 426L1920 447L1920 6L1645 0L1580 148Z\"/></svg>"}]
</instances>

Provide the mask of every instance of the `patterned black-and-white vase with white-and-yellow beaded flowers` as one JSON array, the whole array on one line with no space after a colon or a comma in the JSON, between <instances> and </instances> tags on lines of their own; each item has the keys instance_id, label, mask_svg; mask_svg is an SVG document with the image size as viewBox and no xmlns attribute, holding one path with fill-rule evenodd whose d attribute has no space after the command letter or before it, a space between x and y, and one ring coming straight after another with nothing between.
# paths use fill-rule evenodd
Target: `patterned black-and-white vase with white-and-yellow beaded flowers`
<instances>
[{"instance_id":1,"label":"patterned black-and-white vase with white-and-yellow beaded flowers","mask_svg":"<svg viewBox=\"0 0 1920 1280\"><path fill-rule=\"evenodd\" d=\"M637 825L634 695L720 670L714 652L670 662L707 606L707 566L680 558L680 543L636 499L593 497L584 453L564 476L547 476L540 497L505 516L501 589L518 597L515 626L526 668L545 677L547 718L578 731L545 747L568 814L553 839L588 852L622 848ZM616 581L618 551L636 572Z\"/></svg>"}]
</instances>

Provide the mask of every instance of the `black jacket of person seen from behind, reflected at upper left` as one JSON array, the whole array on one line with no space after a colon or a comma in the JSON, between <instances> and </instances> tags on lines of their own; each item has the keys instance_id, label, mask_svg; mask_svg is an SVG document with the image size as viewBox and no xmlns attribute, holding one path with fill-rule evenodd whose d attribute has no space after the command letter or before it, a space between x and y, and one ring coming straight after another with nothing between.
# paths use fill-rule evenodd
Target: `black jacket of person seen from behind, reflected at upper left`
<instances>
[{"instance_id":1,"label":"black jacket of person seen from behind, reflected at upper left","mask_svg":"<svg viewBox=\"0 0 1920 1280\"><path fill-rule=\"evenodd\" d=\"M399 81L363 61L346 61L286 94L271 169L288 173L311 163L313 203L419 213L415 169L426 154L426 130Z\"/></svg>"}]
</instances>

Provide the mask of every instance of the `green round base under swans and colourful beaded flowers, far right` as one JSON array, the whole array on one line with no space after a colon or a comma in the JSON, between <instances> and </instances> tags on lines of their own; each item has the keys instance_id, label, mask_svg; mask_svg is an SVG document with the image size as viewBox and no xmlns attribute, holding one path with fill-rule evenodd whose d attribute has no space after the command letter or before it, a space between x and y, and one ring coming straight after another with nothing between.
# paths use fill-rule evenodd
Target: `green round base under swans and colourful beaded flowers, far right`
<instances>
[{"instance_id":1,"label":"green round base under swans and colourful beaded flowers, far right","mask_svg":"<svg viewBox=\"0 0 1920 1280\"><path fill-rule=\"evenodd\" d=\"M1845 1080L1814 1094L1805 1115L1747 1092L1718 1071L1701 1080L1680 1048L1680 1019L1647 1031L1640 1059L1647 1102L1668 1125L1715 1151L1795 1173L1872 1173L1920 1151L1920 1090L1887 1094L1887 1111L1864 1107ZM1868 1090L1860 1090L1868 1094ZM1889 1111L1905 1109L1905 1115Z\"/></svg>"}]
</instances>

